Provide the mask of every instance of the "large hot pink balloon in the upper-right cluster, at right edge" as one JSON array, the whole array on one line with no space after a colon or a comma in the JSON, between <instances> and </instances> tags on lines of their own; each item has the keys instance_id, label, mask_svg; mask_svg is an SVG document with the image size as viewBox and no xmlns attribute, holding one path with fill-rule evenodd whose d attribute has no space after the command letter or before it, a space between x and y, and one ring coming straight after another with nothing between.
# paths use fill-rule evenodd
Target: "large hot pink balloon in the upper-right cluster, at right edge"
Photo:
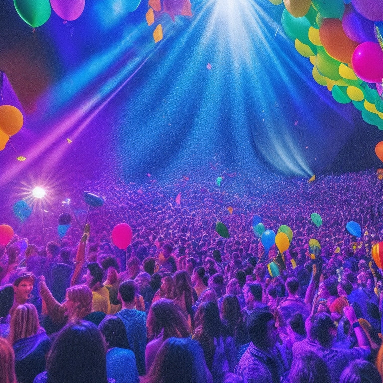
<instances>
[{"instance_id":1,"label":"large hot pink balloon in the upper-right cluster, at right edge","mask_svg":"<svg viewBox=\"0 0 383 383\"><path fill-rule=\"evenodd\" d=\"M359 44L351 57L351 65L361 80L382 82L383 51L379 44L370 41Z\"/></svg>"}]
</instances>

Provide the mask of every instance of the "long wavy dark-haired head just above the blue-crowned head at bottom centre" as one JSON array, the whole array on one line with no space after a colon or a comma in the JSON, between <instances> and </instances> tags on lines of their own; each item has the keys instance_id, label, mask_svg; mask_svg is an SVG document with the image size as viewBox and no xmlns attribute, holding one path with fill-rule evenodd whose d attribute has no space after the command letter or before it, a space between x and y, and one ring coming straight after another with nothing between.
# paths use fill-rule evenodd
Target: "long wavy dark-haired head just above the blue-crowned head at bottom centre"
<instances>
[{"instance_id":1,"label":"long wavy dark-haired head just above the blue-crowned head at bottom centre","mask_svg":"<svg viewBox=\"0 0 383 383\"><path fill-rule=\"evenodd\" d=\"M190 327L181 309L166 298L161 298L150 306L146 326L150 339L158 337L161 332L163 339L183 338L190 334Z\"/></svg>"}]
</instances>

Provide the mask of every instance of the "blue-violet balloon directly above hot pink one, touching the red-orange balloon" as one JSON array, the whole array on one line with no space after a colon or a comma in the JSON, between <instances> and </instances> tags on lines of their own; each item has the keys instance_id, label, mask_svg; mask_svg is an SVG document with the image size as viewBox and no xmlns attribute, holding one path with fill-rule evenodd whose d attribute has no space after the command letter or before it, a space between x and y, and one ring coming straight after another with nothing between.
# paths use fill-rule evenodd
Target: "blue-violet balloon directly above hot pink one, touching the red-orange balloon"
<instances>
[{"instance_id":1,"label":"blue-violet balloon directly above hot pink one, touching the red-orange balloon","mask_svg":"<svg viewBox=\"0 0 383 383\"><path fill-rule=\"evenodd\" d=\"M345 6L342 27L346 36L353 41L359 43L377 41L374 34L374 22L361 16L351 4Z\"/></svg>"}]
</instances>

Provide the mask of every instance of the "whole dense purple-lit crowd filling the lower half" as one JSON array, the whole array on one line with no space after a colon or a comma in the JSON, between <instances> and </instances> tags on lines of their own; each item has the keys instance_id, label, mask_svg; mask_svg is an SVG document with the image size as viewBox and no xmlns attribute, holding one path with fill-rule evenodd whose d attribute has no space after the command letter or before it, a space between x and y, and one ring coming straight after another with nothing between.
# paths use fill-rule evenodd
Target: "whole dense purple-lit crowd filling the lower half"
<instances>
[{"instance_id":1,"label":"whole dense purple-lit crowd filling the lower half","mask_svg":"<svg viewBox=\"0 0 383 383\"><path fill-rule=\"evenodd\" d=\"M74 182L52 209L71 214L65 235L26 221L0 248L0 381L383 382L382 181L277 181ZM105 197L87 224L84 189ZM265 250L254 215L291 228L287 251ZM111 236L122 222L126 249Z\"/></svg>"}]
</instances>

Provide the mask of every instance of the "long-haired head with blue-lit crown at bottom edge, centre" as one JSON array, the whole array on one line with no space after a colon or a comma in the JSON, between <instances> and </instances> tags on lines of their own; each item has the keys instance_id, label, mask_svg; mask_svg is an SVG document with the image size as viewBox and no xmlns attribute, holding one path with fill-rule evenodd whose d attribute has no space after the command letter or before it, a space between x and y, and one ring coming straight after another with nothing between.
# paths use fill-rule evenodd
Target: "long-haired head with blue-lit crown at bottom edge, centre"
<instances>
[{"instance_id":1,"label":"long-haired head with blue-lit crown at bottom edge, centre","mask_svg":"<svg viewBox=\"0 0 383 383\"><path fill-rule=\"evenodd\" d=\"M203 350L190 338L168 338L160 347L143 383L211 382Z\"/></svg>"}]
</instances>

